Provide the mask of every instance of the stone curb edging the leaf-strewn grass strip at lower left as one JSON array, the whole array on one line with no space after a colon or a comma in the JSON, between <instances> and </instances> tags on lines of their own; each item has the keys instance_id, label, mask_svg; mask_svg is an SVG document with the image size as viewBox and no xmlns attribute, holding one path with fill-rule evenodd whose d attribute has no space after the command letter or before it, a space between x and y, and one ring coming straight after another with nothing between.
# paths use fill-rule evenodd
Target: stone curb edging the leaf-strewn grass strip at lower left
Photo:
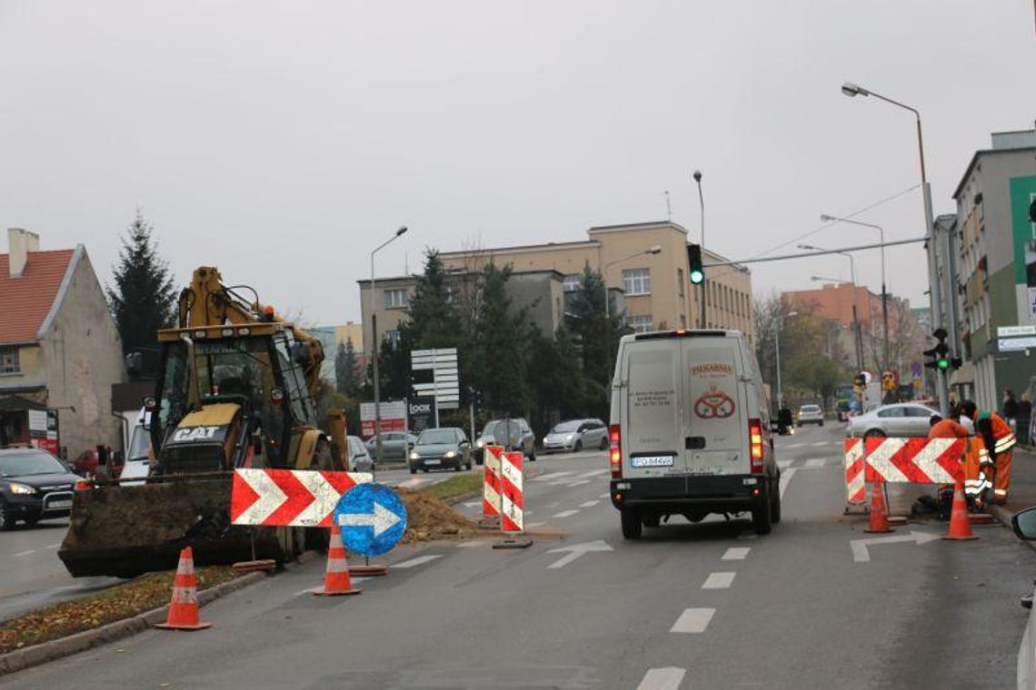
<instances>
[{"instance_id":1,"label":"stone curb edging the leaf-strewn grass strip at lower left","mask_svg":"<svg viewBox=\"0 0 1036 690\"><path fill-rule=\"evenodd\" d=\"M309 553L310 551L306 552ZM249 584L258 582L265 577L266 573L249 573L207 590L202 590L198 593L198 605L204 606L211 601L225 597L232 592L242 590ZM32 647L15 650L7 654L0 654L0 677L32 666L38 666L55 659L78 654L79 652L85 652L94 647L136 635L139 632L144 632L152 624L161 623L166 618L168 611L169 605L167 604L160 608L152 608L149 611L138 613L133 618L109 623L93 630L84 630L67 637L60 637L47 642L40 642L39 644L33 644Z\"/></svg>"}]
</instances>

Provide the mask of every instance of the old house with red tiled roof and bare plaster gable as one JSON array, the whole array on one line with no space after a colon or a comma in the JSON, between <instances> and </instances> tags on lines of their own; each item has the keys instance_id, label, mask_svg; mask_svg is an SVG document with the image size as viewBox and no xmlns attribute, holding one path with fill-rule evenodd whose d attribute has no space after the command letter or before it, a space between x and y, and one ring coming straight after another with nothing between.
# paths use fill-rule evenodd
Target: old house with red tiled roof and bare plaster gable
<instances>
[{"instance_id":1,"label":"old house with red tiled roof and bare plaster gable","mask_svg":"<svg viewBox=\"0 0 1036 690\"><path fill-rule=\"evenodd\" d=\"M66 457L97 444L118 447L121 421L111 395L126 378L122 347L86 249L40 251L39 236L21 229L7 237L9 251L0 254L0 444Z\"/></svg>"}]
</instances>

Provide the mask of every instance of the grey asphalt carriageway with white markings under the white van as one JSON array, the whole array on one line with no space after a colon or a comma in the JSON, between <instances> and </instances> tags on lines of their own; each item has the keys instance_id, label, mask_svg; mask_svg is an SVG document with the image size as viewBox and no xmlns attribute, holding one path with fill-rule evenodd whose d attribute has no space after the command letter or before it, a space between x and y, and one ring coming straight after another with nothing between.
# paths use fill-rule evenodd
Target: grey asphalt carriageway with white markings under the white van
<instances>
[{"instance_id":1,"label":"grey asphalt carriageway with white markings under the white van","mask_svg":"<svg viewBox=\"0 0 1036 690\"><path fill-rule=\"evenodd\" d=\"M784 519L767 537L744 520L674 518L624 541L604 454L541 457L528 549L493 550L493 537L397 549L388 577L347 598L311 596L323 564L310 563L206 606L210 630L149 631L4 683L1013 687L1036 556L999 526L948 542L926 538L945 523L921 521L854 558L851 541L871 535L842 514L840 433L778 441Z\"/></svg>"}]
</instances>

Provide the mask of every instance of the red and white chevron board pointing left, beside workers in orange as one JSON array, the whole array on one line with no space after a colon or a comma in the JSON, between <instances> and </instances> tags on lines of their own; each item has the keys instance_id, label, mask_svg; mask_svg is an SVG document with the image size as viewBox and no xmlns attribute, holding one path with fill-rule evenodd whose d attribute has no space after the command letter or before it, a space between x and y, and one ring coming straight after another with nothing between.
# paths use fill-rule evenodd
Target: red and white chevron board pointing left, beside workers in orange
<instances>
[{"instance_id":1,"label":"red and white chevron board pointing left, beside workers in orange","mask_svg":"<svg viewBox=\"0 0 1036 690\"><path fill-rule=\"evenodd\" d=\"M866 439L864 479L953 484L965 476L960 462L963 452L965 442L960 439Z\"/></svg>"}]
</instances>

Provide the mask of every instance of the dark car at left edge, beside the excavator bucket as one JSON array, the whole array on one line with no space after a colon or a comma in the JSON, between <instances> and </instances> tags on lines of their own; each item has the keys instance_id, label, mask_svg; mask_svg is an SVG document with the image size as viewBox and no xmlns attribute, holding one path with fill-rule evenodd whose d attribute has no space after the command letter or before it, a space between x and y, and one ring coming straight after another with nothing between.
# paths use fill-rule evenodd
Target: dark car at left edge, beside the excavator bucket
<instances>
[{"instance_id":1,"label":"dark car at left edge, beside the excavator bucket","mask_svg":"<svg viewBox=\"0 0 1036 690\"><path fill-rule=\"evenodd\" d=\"M35 448L0 450L0 530L16 520L35 524L67 517L78 475L60 460Z\"/></svg>"}]
</instances>

